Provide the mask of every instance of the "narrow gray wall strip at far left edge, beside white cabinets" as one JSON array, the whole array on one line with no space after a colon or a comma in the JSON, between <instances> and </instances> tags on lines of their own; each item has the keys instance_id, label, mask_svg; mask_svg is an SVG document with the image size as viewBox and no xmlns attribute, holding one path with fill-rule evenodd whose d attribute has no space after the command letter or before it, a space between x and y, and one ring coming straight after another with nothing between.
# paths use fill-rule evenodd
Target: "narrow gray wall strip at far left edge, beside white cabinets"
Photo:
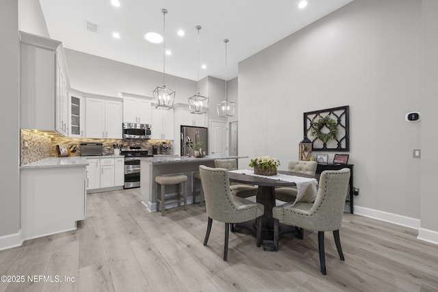
<instances>
[{"instance_id":1,"label":"narrow gray wall strip at far left edge, beside white cabinets","mask_svg":"<svg viewBox=\"0 0 438 292\"><path fill-rule=\"evenodd\" d=\"M4 0L0 9L0 124L6 151L0 167L0 238L20 230L20 108L18 3ZM4 140L3 140L4 139ZM1 248L1 241L0 241Z\"/></svg>"}]
</instances>

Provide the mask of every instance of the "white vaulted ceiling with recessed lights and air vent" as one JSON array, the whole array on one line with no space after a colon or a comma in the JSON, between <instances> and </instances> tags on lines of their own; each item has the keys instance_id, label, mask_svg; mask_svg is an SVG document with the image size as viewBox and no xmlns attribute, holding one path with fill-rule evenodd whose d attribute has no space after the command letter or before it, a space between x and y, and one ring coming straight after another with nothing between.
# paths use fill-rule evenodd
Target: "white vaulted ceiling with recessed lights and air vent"
<instances>
[{"instance_id":1,"label":"white vaulted ceiling with recessed lights and air vent","mask_svg":"<svg viewBox=\"0 0 438 292\"><path fill-rule=\"evenodd\" d=\"M40 0L49 35L65 48L114 59L163 72L163 44L144 39L149 31L163 33L166 14L166 74L198 79L200 31L200 79L237 77L238 62L293 34L352 0ZM86 21L99 25L99 33L86 30ZM185 36L177 35L183 29ZM114 31L119 39L112 37ZM225 66L225 44L227 66Z\"/></svg>"}]
</instances>

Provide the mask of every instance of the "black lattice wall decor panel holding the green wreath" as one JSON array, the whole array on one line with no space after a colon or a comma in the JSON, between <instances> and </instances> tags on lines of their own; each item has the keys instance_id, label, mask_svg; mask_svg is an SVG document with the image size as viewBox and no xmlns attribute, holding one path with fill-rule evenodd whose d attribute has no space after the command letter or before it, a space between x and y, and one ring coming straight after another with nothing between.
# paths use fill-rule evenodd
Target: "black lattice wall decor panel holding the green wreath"
<instances>
[{"instance_id":1,"label":"black lattice wall decor panel holding the green wreath","mask_svg":"<svg viewBox=\"0 0 438 292\"><path fill-rule=\"evenodd\" d=\"M312 142L313 151L350 151L350 118L349 107L333 107L331 109L321 109L319 111L309 111L303 114L304 118L304 137L308 137ZM337 135L335 139L331 139L326 143L311 135L311 127L313 123L329 116L332 120L337 122ZM329 133L328 127L322 127L321 133Z\"/></svg>"}]
</instances>

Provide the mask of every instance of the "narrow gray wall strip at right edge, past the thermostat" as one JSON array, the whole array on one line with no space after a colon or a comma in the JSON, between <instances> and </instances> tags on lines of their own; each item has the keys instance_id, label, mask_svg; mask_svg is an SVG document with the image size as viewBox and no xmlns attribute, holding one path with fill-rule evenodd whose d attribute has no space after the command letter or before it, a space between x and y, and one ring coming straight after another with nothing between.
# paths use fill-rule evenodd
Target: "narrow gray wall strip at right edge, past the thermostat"
<instances>
[{"instance_id":1,"label":"narrow gray wall strip at right edge, past the thermostat","mask_svg":"<svg viewBox=\"0 0 438 292\"><path fill-rule=\"evenodd\" d=\"M421 222L422 228L438 231L438 1L423 0L423 63L422 63L422 170ZM438 241L438 234L437 239Z\"/></svg>"}]
</instances>

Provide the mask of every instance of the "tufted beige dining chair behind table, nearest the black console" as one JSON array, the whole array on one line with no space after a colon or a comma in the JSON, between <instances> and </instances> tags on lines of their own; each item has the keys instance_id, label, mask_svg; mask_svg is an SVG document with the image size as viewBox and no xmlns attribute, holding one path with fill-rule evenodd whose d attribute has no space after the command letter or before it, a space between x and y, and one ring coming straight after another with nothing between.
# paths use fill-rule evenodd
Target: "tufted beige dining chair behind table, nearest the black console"
<instances>
[{"instance_id":1,"label":"tufted beige dining chair behind table, nearest the black console","mask_svg":"<svg viewBox=\"0 0 438 292\"><path fill-rule=\"evenodd\" d=\"M289 172L300 172L315 176L317 166L318 163L316 161L289 160L287 170L289 170ZM294 202L297 192L298 191L296 187L278 187L275 189L275 198L276 200L281 200L284 202Z\"/></svg>"}]
</instances>

